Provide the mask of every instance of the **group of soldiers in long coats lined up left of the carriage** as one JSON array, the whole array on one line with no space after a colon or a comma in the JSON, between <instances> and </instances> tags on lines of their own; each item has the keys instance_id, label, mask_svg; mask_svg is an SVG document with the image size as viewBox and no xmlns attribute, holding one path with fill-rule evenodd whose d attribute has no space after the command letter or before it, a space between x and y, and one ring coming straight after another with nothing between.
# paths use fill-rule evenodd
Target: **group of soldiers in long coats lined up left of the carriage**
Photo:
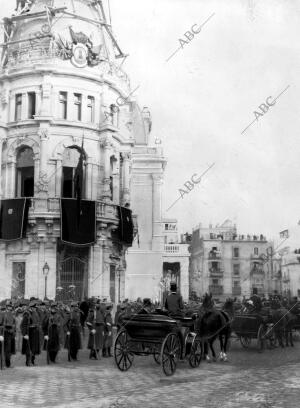
<instances>
[{"instance_id":1,"label":"group of soldiers in long coats lined up left of the carriage","mask_svg":"<svg viewBox=\"0 0 300 408\"><path fill-rule=\"evenodd\" d=\"M68 350L69 361L77 360L88 329L90 358L111 357L112 304L106 300L85 299L63 303L31 298L6 300L0 306L1 367L11 366L11 356L21 352L26 366L35 365L42 350L47 361L55 363L61 348Z\"/></svg>"}]
</instances>

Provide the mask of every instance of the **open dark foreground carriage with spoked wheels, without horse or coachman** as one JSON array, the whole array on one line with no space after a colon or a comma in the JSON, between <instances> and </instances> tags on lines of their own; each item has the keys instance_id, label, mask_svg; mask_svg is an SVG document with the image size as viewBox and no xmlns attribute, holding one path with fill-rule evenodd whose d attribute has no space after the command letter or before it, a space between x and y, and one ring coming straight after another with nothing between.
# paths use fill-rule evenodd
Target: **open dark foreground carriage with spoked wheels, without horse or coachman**
<instances>
[{"instance_id":1,"label":"open dark foreground carriage with spoked wheels, without horse or coachman","mask_svg":"<svg viewBox=\"0 0 300 408\"><path fill-rule=\"evenodd\" d=\"M193 318L160 313L124 317L114 343L117 367L127 371L135 355L153 355L168 376L175 373L178 360L186 359L192 368L198 367L202 343L194 332Z\"/></svg>"}]
</instances>

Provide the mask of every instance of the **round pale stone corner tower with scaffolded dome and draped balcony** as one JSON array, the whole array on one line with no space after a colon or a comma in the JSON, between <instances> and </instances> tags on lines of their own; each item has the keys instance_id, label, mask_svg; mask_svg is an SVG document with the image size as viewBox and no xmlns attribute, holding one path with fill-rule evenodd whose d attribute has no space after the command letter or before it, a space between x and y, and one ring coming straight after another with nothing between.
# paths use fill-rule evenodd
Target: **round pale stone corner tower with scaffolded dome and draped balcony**
<instances>
[{"instance_id":1,"label":"round pale stone corner tower with scaffolded dome and draped balcony","mask_svg":"<svg viewBox=\"0 0 300 408\"><path fill-rule=\"evenodd\" d=\"M125 55L99 0L16 3L0 71L0 298L117 302L134 230Z\"/></svg>"}]
</instances>

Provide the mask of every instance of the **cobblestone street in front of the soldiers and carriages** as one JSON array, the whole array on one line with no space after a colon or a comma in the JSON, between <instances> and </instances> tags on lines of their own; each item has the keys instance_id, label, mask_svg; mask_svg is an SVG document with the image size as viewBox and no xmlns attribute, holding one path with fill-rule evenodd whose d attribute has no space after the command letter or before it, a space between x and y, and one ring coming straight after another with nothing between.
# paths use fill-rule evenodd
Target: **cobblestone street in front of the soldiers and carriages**
<instances>
[{"instance_id":1,"label":"cobblestone street in front of the soldiers and carriages","mask_svg":"<svg viewBox=\"0 0 300 408\"><path fill-rule=\"evenodd\" d=\"M150 357L135 357L123 373L112 358L67 362L65 351L55 365L46 365L45 352L36 367L25 367L24 356L0 374L1 406L6 407L205 407L292 408L300 399L300 344L294 349L244 350L233 342L228 363L201 362L191 369L178 363L165 377Z\"/></svg>"}]
</instances>

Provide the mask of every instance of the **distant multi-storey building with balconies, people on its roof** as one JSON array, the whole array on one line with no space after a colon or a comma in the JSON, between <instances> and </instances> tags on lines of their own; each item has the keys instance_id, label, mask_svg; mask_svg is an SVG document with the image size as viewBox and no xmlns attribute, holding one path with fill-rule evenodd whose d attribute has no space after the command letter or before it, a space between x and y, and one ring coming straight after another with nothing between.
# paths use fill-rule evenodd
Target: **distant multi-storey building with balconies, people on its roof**
<instances>
[{"instance_id":1,"label":"distant multi-storey building with balconies, people on its roof","mask_svg":"<svg viewBox=\"0 0 300 408\"><path fill-rule=\"evenodd\" d=\"M272 245L263 235L237 234L230 220L216 227L195 228L190 251L192 296L207 292L224 300L253 293L268 295L278 288L277 267L266 255L273 251Z\"/></svg>"}]
</instances>

